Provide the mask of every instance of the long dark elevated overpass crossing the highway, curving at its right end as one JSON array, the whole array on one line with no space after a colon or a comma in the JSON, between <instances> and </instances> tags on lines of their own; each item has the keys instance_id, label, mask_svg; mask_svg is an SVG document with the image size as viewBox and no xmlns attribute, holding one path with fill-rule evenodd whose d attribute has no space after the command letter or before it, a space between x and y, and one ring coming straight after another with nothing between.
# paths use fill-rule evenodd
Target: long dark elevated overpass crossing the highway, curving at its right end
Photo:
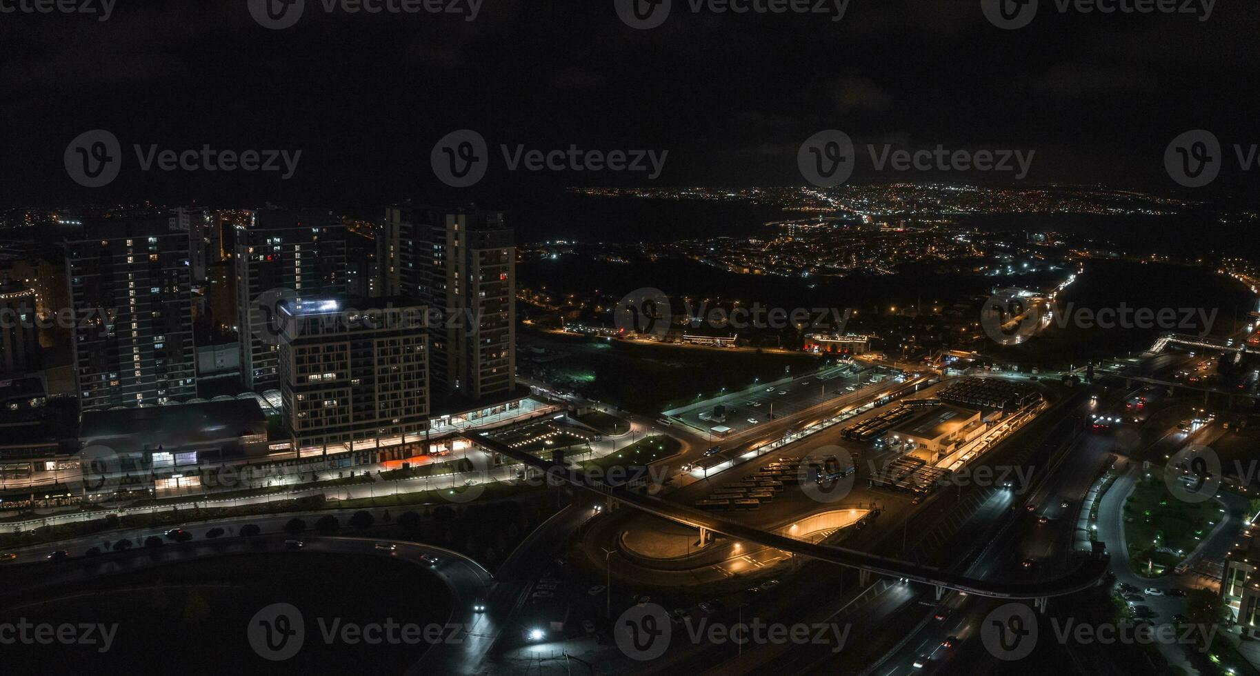
<instances>
[{"instance_id":1,"label":"long dark elevated overpass crossing the highway, curving at its right end","mask_svg":"<svg viewBox=\"0 0 1260 676\"><path fill-rule=\"evenodd\" d=\"M866 574L886 575L890 578L907 579L936 588L940 597L945 589L955 589L979 597L998 599L1032 599L1043 604L1050 597L1072 594L1095 586L1106 574L1109 560L1106 555L1081 557L1080 565L1056 578L1043 578L1027 581L1002 581L982 580L944 571L935 566L911 564L898 559L877 556L863 551L835 547L829 545L815 545L791 537L762 531L751 526L745 526L727 518L714 516L709 512L694 510L683 504L660 499L653 496L643 496L625 487L610 486L605 482L585 477L568 469L559 457L551 460L538 458L510 448L503 443L485 435L465 431L464 436L484 449L501 453L509 458L538 468L548 477L563 479L570 486L597 493L620 504L646 512L660 518L667 518L678 523L722 533L736 540L756 542L767 547L775 547L800 556L809 556L837 565L854 568Z\"/></svg>"}]
</instances>

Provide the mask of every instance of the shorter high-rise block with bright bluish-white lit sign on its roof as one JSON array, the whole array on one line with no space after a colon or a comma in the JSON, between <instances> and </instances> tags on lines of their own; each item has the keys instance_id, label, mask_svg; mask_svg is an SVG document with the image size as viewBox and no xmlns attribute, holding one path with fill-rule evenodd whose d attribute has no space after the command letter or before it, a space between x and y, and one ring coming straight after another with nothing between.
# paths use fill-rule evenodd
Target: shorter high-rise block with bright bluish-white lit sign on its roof
<instances>
[{"instance_id":1,"label":"shorter high-rise block with bright bluish-white lit sign on its roof","mask_svg":"<svg viewBox=\"0 0 1260 676\"><path fill-rule=\"evenodd\" d=\"M396 301L284 301L280 391L302 455L404 457L428 425L425 308Z\"/></svg>"}]
</instances>

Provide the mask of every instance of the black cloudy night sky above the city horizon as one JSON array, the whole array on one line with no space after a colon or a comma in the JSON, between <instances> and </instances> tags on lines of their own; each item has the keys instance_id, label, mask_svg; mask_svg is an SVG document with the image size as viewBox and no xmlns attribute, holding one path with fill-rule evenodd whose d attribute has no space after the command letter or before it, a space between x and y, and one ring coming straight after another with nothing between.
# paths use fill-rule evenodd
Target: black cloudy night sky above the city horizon
<instances>
[{"instance_id":1,"label":"black cloudy night sky above the city horizon","mask_svg":"<svg viewBox=\"0 0 1260 676\"><path fill-rule=\"evenodd\" d=\"M33 0L0 6L19 1ZM456 4L462 14L402 15L325 13L324 1L306 0L282 30L256 23L246 0L120 0L107 21L0 14L0 203L354 209L415 197L510 207L573 184L804 184L798 145L824 129L859 145L1034 149L1022 184L1168 193L1179 187L1164 170L1166 146L1207 129L1227 160L1198 194L1256 193L1256 172L1244 173L1232 151L1260 141L1252 1L1216 3L1201 21L1062 14L1062 0L1041 0L1018 30L990 24L979 0L852 0L840 21L693 13L689 0L673 0L650 30L622 23L612 0L485 0L472 21L466 0ZM125 156L118 178L97 189L76 184L63 165L67 144L92 129L113 132ZM462 190L430 169L433 144L459 129L483 134L495 158L485 180ZM134 144L302 156L289 180L141 172ZM656 180L509 174L499 144L669 156ZM1014 183L873 174L868 164L859 160L853 182Z\"/></svg>"}]
</instances>

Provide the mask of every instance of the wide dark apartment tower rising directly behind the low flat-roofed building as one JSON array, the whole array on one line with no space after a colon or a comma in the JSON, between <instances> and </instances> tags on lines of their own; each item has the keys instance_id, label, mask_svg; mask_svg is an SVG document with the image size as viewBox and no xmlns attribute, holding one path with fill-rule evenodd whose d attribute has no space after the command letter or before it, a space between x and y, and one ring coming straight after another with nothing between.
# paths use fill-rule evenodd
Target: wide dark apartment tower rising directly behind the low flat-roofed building
<instances>
[{"instance_id":1,"label":"wide dark apartment tower rising directly behind the low flat-roofed building","mask_svg":"<svg viewBox=\"0 0 1260 676\"><path fill-rule=\"evenodd\" d=\"M197 396L188 257L165 217L87 221L66 242L84 410Z\"/></svg>"}]
</instances>

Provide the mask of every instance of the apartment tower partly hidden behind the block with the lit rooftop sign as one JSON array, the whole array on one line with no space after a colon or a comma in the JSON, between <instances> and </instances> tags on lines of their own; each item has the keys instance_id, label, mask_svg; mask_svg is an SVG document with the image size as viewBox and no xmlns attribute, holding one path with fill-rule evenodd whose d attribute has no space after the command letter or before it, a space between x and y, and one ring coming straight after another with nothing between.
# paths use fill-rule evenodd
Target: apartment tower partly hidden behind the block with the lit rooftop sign
<instances>
[{"instance_id":1,"label":"apartment tower partly hidden behind the block with the lit rooftop sign","mask_svg":"<svg viewBox=\"0 0 1260 676\"><path fill-rule=\"evenodd\" d=\"M276 304L345 293L345 226L319 209L261 209L236 226L233 267L241 373L251 390L278 385Z\"/></svg>"}]
</instances>

